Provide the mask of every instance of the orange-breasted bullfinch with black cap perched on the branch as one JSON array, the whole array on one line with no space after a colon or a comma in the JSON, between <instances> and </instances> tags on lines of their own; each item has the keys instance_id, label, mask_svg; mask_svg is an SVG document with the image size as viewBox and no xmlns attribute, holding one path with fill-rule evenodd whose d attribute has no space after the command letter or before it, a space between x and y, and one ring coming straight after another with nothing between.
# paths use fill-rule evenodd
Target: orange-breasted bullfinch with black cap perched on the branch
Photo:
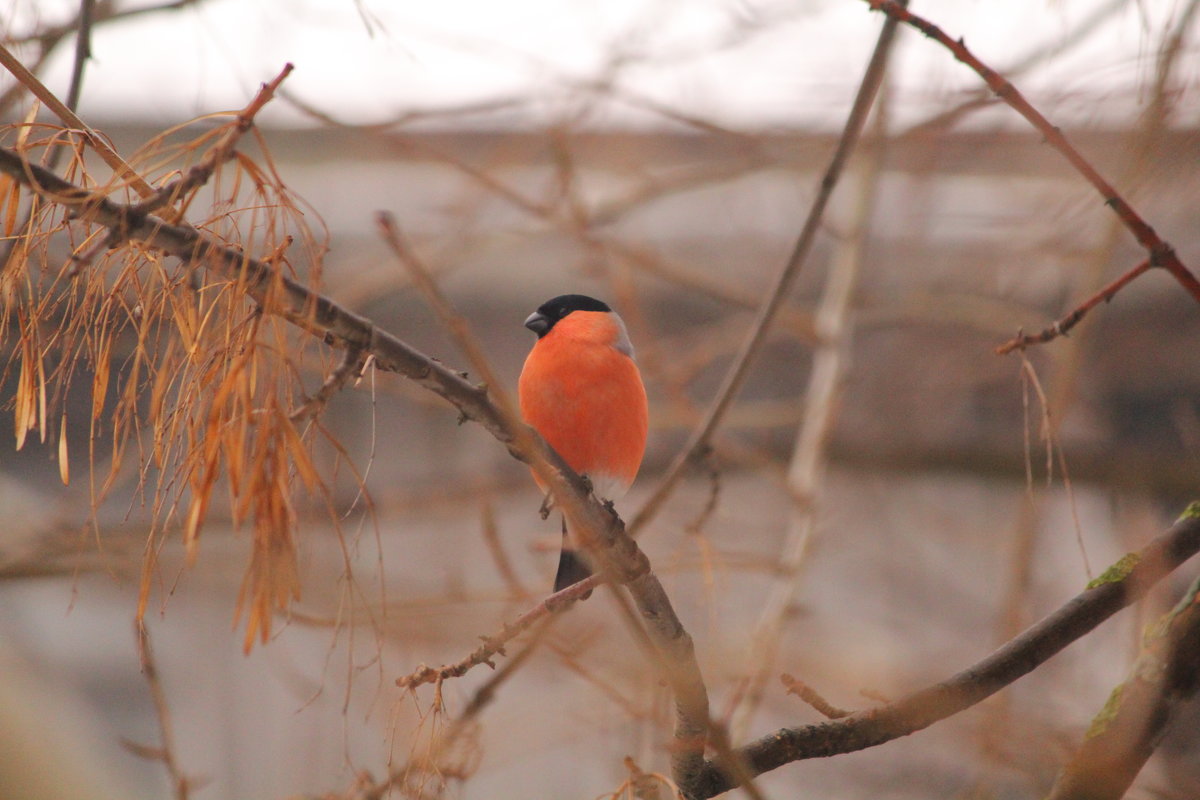
<instances>
[{"instance_id":1,"label":"orange-breasted bullfinch with black cap perched on the branch","mask_svg":"<svg viewBox=\"0 0 1200 800\"><path fill-rule=\"evenodd\" d=\"M620 499L642 465L648 428L646 386L625 323L595 297L565 294L538 306L524 326L538 339L517 380L521 416L588 479L598 499ZM554 591L590 575L564 519Z\"/></svg>"}]
</instances>

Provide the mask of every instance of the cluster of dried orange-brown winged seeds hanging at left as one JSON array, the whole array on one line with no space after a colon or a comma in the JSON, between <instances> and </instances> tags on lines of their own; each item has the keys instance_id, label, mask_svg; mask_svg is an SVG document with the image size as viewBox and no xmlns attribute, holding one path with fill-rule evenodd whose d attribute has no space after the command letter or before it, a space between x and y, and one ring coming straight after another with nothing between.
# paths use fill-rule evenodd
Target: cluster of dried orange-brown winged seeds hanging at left
<instances>
[{"instance_id":1,"label":"cluster of dried orange-brown winged seeds hanging at left","mask_svg":"<svg viewBox=\"0 0 1200 800\"><path fill-rule=\"evenodd\" d=\"M67 180L118 201L138 199L130 175L97 184L86 157L95 134L31 120L4 128L0 142L30 163L61 150ZM246 130L245 114L210 116L148 142L128 162L154 190L138 207L172 222L203 215L192 221L197 229L269 253L263 260L280 275L296 277L299 251L314 266L306 281L317 282L324 233L308 224L316 215L288 192L260 137L257 158L234 148ZM324 486L310 451L319 427L301 428L292 414L305 399L300 377L320 355L311 337L262 313L240 285L245 277L77 222L86 209L64 200L0 178L0 324L12 342L0 383L16 384L17 447L30 434L56 437L67 482L68 426L86 426L94 509L115 485L136 483L152 531L139 613L167 535L180 531L193 558L210 509L227 504L234 524L253 531L238 612L248 649L299 595L295 487L322 497ZM96 452L103 441L107 452Z\"/></svg>"}]
</instances>

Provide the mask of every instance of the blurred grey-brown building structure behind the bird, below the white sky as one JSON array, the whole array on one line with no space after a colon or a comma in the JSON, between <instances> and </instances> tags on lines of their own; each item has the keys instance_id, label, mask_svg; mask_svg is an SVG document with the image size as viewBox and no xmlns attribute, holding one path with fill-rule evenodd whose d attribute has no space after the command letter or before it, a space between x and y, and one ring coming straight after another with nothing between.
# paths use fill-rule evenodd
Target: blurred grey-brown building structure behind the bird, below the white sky
<instances>
[{"instance_id":1,"label":"blurred grey-brown building structure behind the bird, below the white sky","mask_svg":"<svg viewBox=\"0 0 1200 800\"><path fill-rule=\"evenodd\" d=\"M94 124L122 152L155 133ZM1200 266L1200 131L1069 134ZM542 300L581 290L618 305L653 407L652 450L626 516L712 397L834 145L823 133L734 131L325 128L263 138L278 175L311 204L311 223L328 225L323 290L448 363L464 366L376 235L376 210L396 215L510 387L530 344L521 320ZM1169 524L1200 485L1200 313L1168 276L1145 276L1069 338L1025 354L1040 389L1020 355L992 353L1144 258L1062 158L1012 131L918 128L863 146L881 154L874 211L817 535L775 670L856 708L871 702L859 688L895 697L978 660L1014 620L1027 624L1085 584L1076 537L1098 572ZM848 228L850 196L845 186L835 196L715 441L715 495L714 479L690 476L643 536L696 639L716 715L744 668L794 512L782 474L817 343L814 308ZM306 273L299 248L294 258ZM311 390L322 375L301 378ZM1038 391L1054 404L1069 488L1057 455L1046 486ZM312 511L301 527L305 595L269 645L242 657L229 631L248 558L242 535L214 521L194 567L175 546L164 551L151 628L181 768L211 781L198 798L340 792L355 770L379 777L389 748L392 768L415 758L428 696L396 696L392 679L461 657L548 587L557 522L538 519L523 468L458 427L437 398L368 377L334 399L324 423L367 475L373 512L359 504L343 521L343 551L328 516ZM72 445L86 452L82 439ZM0 457L6 507L26 510L10 512L0 536L0 637L48 692L70 687L74 714L90 715L88 747L128 784L125 796L166 796L161 766L119 745L158 736L131 631L144 509L114 495L97 547L79 535L86 481L64 491L56 480L44 450ZM336 487L349 509L356 489L346 470ZM502 579L485 518L529 597L514 600ZM347 563L358 594L346 591ZM1189 575L1192 566L1177 584ZM353 615L353 636L324 625L382 597L386 612ZM1168 591L1156 602L1172 601ZM600 593L556 626L551 646L484 716L468 759L476 771L455 796L598 796L623 780L624 754L661 766L662 690L610 612ZM1152 614L1124 614L1002 700L864 753L788 765L761 786L768 796L1040 796L1122 679L1138 620ZM451 714L486 676L444 687ZM773 682L750 733L817 718ZM1194 735L1187 721L1175 727L1136 796L1200 792Z\"/></svg>"}]
</instances>

